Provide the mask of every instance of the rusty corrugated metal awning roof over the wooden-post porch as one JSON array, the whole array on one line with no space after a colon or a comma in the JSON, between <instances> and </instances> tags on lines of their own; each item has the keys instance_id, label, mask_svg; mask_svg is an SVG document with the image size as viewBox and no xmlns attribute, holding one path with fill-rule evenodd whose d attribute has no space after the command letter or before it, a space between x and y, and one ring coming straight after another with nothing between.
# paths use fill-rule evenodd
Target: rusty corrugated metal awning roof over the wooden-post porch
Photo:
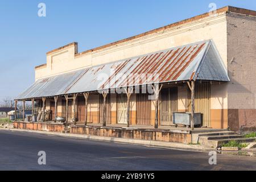
<instances>
[{"instance_id":1,"label":"rusty corrugated metal awning roof over the wooden-post porch","mask_svg":"<svg viewBox=\"0 0 256 182\"><path fill-rule=\"evenodd\" d=\"M18 100L187 80L229 81L212 41L175 47L38 80Z\"/></svg>"}]
</instances>

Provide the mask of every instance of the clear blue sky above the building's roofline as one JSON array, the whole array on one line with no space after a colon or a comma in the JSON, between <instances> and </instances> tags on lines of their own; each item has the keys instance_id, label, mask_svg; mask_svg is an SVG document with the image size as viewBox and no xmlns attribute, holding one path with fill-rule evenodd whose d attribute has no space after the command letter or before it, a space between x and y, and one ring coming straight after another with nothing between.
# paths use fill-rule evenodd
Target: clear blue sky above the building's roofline
<instances>
[{"instance_id":1,"label":"clear blue sky above the building's roofline","mask_svg":"<svg viewBox=\"0 0 256 182\"><path fill-rule=\"evenodd\" d=\"M46 4L46 17L38 4ZM0 0L0 102L34 82L46 52L79 42L79 52L128 38L217 8L256 10L256 1L223 0Z\"/></svg>"}]
</instances>

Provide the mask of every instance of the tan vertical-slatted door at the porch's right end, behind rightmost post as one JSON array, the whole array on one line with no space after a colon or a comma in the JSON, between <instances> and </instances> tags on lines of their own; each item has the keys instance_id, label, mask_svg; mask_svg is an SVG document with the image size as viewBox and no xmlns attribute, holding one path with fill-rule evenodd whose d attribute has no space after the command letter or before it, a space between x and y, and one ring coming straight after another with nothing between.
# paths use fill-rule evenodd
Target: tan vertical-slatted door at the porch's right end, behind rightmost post
<instances>
[{"instance_id":1,"label":"tan vertical-slatted door at the porch's right end, behind rightmost post","mask_svg":"<svg viewBox=\"0 0 256 182\"><path fill-rule=\"evenodd\" d=\"M188 111L191 112L191 90L188 88ZM210 127L210 83L195 83L195 112L203 114L203 126Z\"/></svg>"}]
</instances>

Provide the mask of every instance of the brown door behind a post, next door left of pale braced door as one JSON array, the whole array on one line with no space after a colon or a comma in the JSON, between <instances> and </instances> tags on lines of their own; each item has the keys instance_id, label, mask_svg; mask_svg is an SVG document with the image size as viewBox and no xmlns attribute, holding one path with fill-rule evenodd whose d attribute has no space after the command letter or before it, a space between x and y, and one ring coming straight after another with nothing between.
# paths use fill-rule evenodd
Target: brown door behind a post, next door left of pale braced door
<instances>
[{"instance_id":1,"label":"brown door behind a post, next door left of pale braced door","mask_svg":"<svg viewBox=\"0 0 256 182\"><path fill-rule=\"evenodd\" d=\"M103 96L100 95L100 123L103 122ZM106 97L106 123L111 124L111 101L110 101L110 94Z\"/></svg>"}]
</instances>

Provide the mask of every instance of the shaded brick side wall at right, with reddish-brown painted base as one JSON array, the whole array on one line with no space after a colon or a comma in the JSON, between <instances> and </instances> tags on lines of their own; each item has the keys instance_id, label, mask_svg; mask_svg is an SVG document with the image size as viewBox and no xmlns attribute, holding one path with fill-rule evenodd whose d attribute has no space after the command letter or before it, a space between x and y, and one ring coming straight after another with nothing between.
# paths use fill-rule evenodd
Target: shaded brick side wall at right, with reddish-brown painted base
<instances>
[{"instance_id":1,"label":"shaded brick side wall at right, with reddish-brown painted base","mask_svg":"<svg viewBox=\"0 0 256 182\"><path fill-rule=\"evenodd\" d=\"M256 126L256 17L227 15L228 117L233 129Z\"/></svg>"}]
</instances>

